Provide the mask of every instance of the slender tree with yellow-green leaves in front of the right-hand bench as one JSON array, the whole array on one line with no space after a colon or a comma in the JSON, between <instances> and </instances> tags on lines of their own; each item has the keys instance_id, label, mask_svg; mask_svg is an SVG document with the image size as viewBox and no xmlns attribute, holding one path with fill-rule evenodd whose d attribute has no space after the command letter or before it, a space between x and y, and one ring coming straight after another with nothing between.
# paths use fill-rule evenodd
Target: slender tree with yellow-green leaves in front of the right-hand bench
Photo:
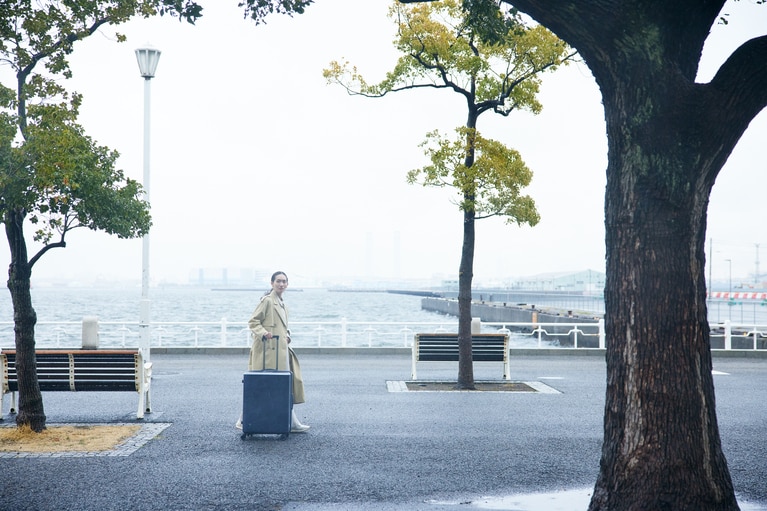
<instances>
[{"instance_id":1,"label":"slender tree with yellow-green leaves in front of the right-hand bench","mask_svg":"<svg viewBox=\"0 0 767 511\"><path fill-rule=\"evenodd\" d=\"M486 43L458 0L403 6L395 3L395 45L402 53L379 84L368 85L348 63L332 62L324 71L353 95L383 97L389 92L419 88L448 89L466 101L467 118L455 142L428 135L426 154L432 165L411 171L410 182L423 176L425 185L453 186L463 211L463 246L458 273L458 386L474 388L471 358L471 285L477 219L504 216L508 222L535 225L538 213L520 189L531 173L519 154L477 131L483 113L507 116L512 110L541 110L536 99L539 75L553 71L573 56L565 43L543 27L526 27L518 18L500 20L502 34ZM430 145L433 144L433 145Z\"/></svg>"}]
</instances>

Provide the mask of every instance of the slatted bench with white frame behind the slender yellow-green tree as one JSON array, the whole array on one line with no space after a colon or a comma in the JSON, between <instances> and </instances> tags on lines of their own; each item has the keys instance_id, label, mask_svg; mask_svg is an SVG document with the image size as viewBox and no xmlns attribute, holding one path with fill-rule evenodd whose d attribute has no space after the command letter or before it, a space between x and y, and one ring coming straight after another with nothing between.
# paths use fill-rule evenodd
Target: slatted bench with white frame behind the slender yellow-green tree
<instances>
[{"instance_id":1,"label":"slatted bench with white frame behind the slender yellow-green tree","mask_svg":"<svg viewBox=\"0 0 767 511\"><path fill-rule=\"evenodd\" d=\"M511 379L509 375L509 334L472 335L471 357L474 362L503 362L503 379ZM417 379L417 362L438 361L458 361L458 334L415 334L411 378Z\"/></svg>"}]
</instances>

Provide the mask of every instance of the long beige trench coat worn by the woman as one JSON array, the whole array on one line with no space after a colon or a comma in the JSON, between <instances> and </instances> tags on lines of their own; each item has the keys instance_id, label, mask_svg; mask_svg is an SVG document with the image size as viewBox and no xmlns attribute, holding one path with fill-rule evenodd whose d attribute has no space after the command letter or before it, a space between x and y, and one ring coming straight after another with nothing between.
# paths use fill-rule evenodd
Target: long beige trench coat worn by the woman
<instances>
[{"instance_id":1,"label":"long beige trench coat worn by the woman","mask_svg":"<svg viewBox=\"0 0 767 511\"><path fill-rule=\"evenodd\" d=\"M288 329L288 308L281 303L277 293L272 291L261 298L256 310L248 321L250 335L253 340L250 346L250 357L248 360L248 370L260 371L264 369L264 359L266 359L266 368L275 367L275 358L277 353L277 343L274 339L268 339L266 343L263 336L269 332L273 336L279 336L279 354L280 360L277 368L280 371L290 369L293 373L293 404L300 404L305 401L304 382L301 377L301 366L298 363L298 357L288 347L290 338L290 329ZM266 344L266 354L264 354L264 344ZM264 356L266 355L266 356Z\"/></svg>"}]
</instances>

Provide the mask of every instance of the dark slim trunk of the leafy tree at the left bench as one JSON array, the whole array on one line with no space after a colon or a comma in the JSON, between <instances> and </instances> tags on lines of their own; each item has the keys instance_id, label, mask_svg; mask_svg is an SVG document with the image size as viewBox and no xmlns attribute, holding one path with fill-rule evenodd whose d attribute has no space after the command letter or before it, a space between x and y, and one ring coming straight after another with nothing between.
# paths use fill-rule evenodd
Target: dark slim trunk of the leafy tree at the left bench
<instances>
[{"instance_id":1,"label":"dark slim trunk of the leafy tree at the left bench","mask_svg":"<svg viewBox=\"0 0 767 511\"><path fill-rule=\"evenodd\" d=\"M35 324L37 314L32 307L31 275L27 244L24 240L24 214L10 211L5 223L11 264L8 268L8 290L13 302L13 322L16 337L16 372L19 381L19 410L16 424L28 425L33 431L45 429L43 396L37 382L35 358Z\"/></svg>"}]
</instances>

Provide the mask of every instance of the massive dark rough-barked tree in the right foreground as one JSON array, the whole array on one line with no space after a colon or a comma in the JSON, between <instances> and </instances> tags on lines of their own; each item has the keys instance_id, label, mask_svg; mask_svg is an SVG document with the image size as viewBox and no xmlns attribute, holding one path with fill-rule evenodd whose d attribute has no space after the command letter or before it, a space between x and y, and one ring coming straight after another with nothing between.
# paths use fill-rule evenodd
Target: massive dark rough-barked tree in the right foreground
<instances>
[{"instance_id":1,"label":"massive dark rough-barked tree in the right foreground","mask_svg":"<svg viewBox=\"0 0 767 511\"><path fill-rule=\"evenodd\" d=\"M607 394L589 509L736 510L717 425L705 233L718 172L767 105L767 38L695 82L723 1L514 0L602 91Z\"/></svg>"}]
</instances>

